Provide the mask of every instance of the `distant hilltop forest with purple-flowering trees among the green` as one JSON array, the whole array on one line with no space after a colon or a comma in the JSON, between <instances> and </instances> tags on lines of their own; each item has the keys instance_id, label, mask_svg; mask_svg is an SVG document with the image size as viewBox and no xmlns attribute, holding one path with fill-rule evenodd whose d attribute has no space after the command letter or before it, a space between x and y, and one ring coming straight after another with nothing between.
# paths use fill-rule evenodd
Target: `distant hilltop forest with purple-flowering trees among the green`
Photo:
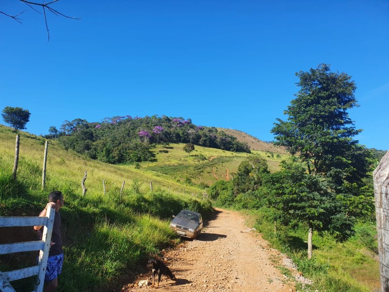
<instances>
[{"instance_id":1,"label":"distant hilltop forest with purple-flowering trees among the green","mask_svg":"<svg viewBox=\"0 0 389 292\"><path fill-rule=\"evenodd\" d=\"M192 143L250 153L247 143L222 130L196 126L191 119L157 115L116 116L105 118L101 123L82 119L65 121L58 139L65 149L111 164L153 160L150 147L158 143Z\"/></svg>"}]
</instances>

